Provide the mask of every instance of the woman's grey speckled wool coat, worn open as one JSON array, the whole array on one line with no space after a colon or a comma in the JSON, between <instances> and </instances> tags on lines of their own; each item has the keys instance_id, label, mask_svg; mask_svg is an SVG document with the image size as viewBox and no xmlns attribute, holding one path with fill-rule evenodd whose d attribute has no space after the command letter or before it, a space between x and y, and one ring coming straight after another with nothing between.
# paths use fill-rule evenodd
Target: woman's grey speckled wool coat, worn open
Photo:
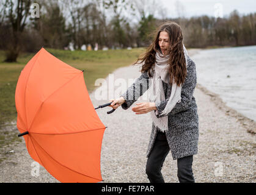
<instances>
[{"instance_id":1,"label":"woman's grey speckled wool coat, worn open","mask_svg":"<svg viewBox=\"0 0 256 195\"><path fill-rule=\"evenodd\" d=\"M125 98L125 103L122 104L123 109L128 109L145 91L148 90L148 79L150 79L148 74L142 73L141 76L135 80L133 85L122 94L123 98ZM197 154L199 116L197 114L196 100L193 96L196 83L196 64L188 57L187 76L181 87L181 102L177 103L168 114L168 130L166 131L166 138L174 160ZM163 87L166 100L156 102L156 108L159 115L163 112L167 101L170 98L172 84L163 82ZM159 118L159 115L156 116ZM152 151L157 132L158 128L152 123L152 133L148 144L147 157Z\"/></svg>"}]
</instances>

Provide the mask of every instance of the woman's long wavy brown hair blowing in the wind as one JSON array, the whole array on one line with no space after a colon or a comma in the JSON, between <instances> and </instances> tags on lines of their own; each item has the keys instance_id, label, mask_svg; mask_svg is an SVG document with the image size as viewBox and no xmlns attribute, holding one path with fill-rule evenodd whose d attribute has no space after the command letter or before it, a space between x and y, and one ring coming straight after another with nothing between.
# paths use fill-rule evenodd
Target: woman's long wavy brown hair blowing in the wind
<instances>
[{"instance_id":1,"label":"woman's long wavy brown hair blowing in the wind","mask_svg":"<svg viewBox=\"0 0 256 195\"><path fill-rule=\"evenodd\" d=\"M168 60L170 81L174 80L175 83L180 86L181 83L185 82L187 71L185 54L183 52L183 34L181 27L175 22L164 23L156 30L154 40L147 48L145 54L143 54L141 58L139 57L134 65L137 62L144 62L141 73L147 72L148 75L152 77L150 70L152 70L152 66L155 65L156 52L161 51L158 39L160 32L163 31L167 32L169 35L169 48L167 48L166 55L170 55Z\"/></svg>"}]
</instances>

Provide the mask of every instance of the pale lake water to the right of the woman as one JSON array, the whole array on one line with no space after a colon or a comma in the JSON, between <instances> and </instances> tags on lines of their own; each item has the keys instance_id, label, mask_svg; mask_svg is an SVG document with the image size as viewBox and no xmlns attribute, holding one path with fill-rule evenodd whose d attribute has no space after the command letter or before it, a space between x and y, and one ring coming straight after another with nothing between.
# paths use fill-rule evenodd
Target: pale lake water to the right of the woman
<instances>
[{"instance_id":1,"label":"pale lake water to the right of the woman","mask_svg":"<svg viewBox=\"0 0 256 195\"><path fill-rule=\"evenodd\" d=\"M256 121L256 46L205 49L191 59L200 85Z\"/></svg>"}]
</instances>

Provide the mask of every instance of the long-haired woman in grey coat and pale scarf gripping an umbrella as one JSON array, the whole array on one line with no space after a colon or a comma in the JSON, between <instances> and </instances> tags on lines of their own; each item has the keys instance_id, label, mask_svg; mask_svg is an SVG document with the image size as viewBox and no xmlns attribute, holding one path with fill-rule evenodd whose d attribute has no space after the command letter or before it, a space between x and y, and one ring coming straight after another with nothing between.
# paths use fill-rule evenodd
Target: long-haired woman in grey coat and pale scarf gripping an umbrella
<instances>
[{"instance_id":1,"label":"long-haired woman in grey coat and pale scarf gripping an umbrella","mask_svg":"<svg viewBox=\"0 0 256 195\"><path fill-rule=\"evenodd\" d=\"M120 98L111 99L111 107L122 105L127 109L148 90L150 102L132 108L137 115L151 112L153 120L147 151L148 179L164 182L161 168L171 151L177 160L178 180L194 182L192 161L199 139L199 116L193 96L196 65L183 45L181 27L174 22L159 27L155 40L137 62L142 64L141 76Z\"/></svg>"}]
</instances>

